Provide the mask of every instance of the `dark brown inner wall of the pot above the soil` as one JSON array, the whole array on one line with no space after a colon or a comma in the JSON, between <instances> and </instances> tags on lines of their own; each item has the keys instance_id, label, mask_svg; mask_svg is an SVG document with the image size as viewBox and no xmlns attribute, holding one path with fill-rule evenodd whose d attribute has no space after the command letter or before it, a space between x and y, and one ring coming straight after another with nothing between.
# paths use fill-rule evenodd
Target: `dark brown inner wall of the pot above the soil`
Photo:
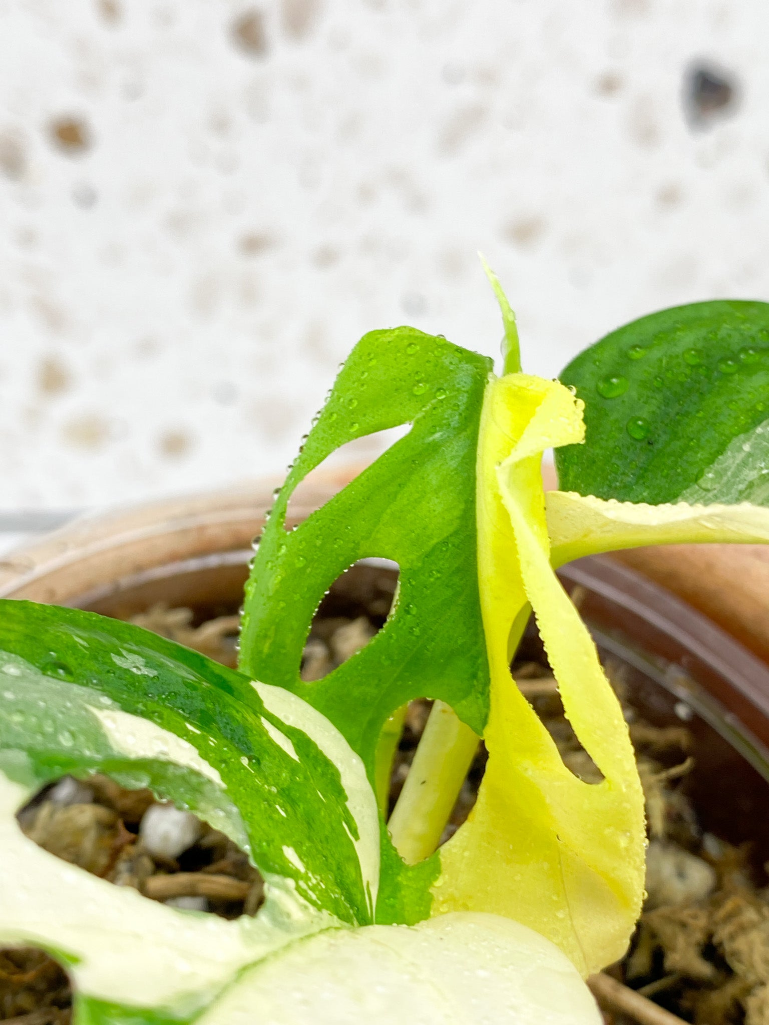
<instances>
[{"instance_id":1,"label":"dark brown inner wall of the pot above the soil","mask_svg":"<svg viewBox=\"0 0 769 1025\"><path fill-rule=\"evenodd\" d=\"M72 604L129 618L163 603L190 608L194 622L203 622L238 610L250 557L249 550L229 551L161 566ZM392 596L396 578L381 566L358 565L336 581L323 611L346 615L346 603L363 591ZM763 739L769 736L769 713L762 701L769 702L769 669L623 567L581 560L566 567L562 579L568 588L580 588L581 612L605 664L624 682L626 704L653 726L685 725L691 732L695 765L687 792L702 827L734 845L750 842L763 873L769 860L769 755ZM524 646L538 653L533 626Z\"/></svg>"}]
</instances>

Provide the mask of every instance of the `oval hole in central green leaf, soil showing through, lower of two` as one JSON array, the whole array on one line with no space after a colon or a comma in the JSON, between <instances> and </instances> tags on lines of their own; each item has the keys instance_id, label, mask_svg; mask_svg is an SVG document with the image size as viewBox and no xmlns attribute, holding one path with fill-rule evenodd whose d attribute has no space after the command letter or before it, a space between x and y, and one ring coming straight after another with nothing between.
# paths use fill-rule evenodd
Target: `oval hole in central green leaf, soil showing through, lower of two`
<instances>
[{"instance_id":1,"label":"oval hole in central green leaf, soil showing through, lower of two","mask_svg":"<svg viewBox=\"0 0 769 1025\"><path fill-rule=\"evenodd\" d=\"M328 675L378 633L398 586L398 564L363 559L331 584L313 617L300 675L312 683Z\"/></svg>"}]
</instances>

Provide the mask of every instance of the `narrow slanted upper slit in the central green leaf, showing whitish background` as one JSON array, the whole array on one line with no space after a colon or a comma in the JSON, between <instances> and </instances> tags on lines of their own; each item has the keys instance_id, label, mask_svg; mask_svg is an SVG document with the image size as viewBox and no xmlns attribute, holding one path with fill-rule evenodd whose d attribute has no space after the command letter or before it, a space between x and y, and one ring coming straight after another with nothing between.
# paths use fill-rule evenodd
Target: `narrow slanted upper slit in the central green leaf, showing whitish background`
<instances>
[{"instance_id":1,"label":"narrow slanted upper slit in the central green leaf, showing whitish background","mask_svg":"<svg viewBox=\"0 0 769 1025\"><path fill-rule=\"evenodd\" d=\"M310 470L288 499L286 518L283 523L286 531L290 533L316 508L318 495L314 493L315 488L336 490L354 481L396 442L405 438L410 429L411 423L401 423L397 427L387 427L385 430L375 430L370 435L354 438L334 449L322 462ZM308 492L311 495L309 502Z\"/></svg>"}]
</instances>

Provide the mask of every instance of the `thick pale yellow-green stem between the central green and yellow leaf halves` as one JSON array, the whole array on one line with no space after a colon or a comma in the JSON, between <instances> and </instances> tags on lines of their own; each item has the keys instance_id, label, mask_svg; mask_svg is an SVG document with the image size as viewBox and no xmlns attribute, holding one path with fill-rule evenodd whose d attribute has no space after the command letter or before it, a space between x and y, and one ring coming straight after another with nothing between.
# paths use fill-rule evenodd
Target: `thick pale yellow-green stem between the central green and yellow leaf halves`
<instances>
[{"instance_id":1,"label":"thick pale yellow-green stem between the central green and yellow leaf halves","mask_svg":"<svg viewBox=\"0 0 769 1025\"><path fill-rule=\"evenodd\" d=\"M436 701L401 795L388 822L396 850L409 864L438 847L478 750L477 734Z\"/></svg>"}]
</instances>

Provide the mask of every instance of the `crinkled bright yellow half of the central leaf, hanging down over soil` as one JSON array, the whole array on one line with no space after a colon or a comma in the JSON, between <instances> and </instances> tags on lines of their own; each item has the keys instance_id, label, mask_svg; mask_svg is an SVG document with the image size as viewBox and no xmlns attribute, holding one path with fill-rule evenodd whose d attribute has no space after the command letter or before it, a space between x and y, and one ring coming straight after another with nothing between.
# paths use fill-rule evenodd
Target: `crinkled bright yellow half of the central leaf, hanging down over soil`
<instances>
[{"instance_id":1,"label":"crinkled bright yellow half of the central leaf, hanging down over soil","mask_svg":"<svg viewBox=\"0 0 769 1025\"><path fill-rule=\"evenodd\" d=\"M434 910L508 915L554 941L588 975L625 950L641 908L645 840L621 709L550 565L541 453L582 435L581 403L558 382L509 374L490 383L478 464L489 761L470 819L441 850ZM509 638L527 603L566 713L605 777L599 784L564 766L511 678Z\"/></svg>"}]
</instances>

